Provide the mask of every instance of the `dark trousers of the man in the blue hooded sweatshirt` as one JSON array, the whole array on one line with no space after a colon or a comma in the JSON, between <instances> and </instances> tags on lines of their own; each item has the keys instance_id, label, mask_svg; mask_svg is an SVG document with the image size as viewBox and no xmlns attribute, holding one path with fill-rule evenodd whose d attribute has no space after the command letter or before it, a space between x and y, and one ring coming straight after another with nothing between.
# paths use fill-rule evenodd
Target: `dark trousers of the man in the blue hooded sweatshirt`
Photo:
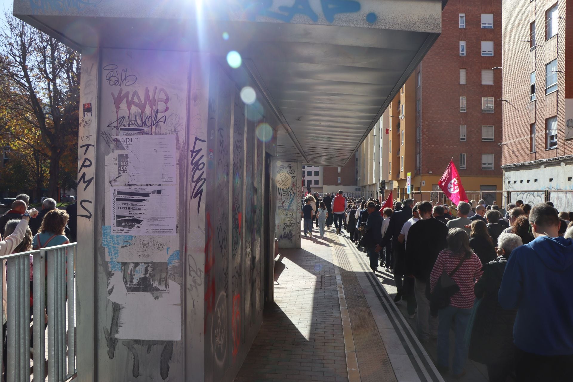
<instances>
[{"instance_id":1,"label":"dark trousers of the man in the blue hooded sweatshirt","mask_svg":"<svg viewBox=\"0 0 573 382\"><path fill-rule=\"evenodd\" d=\"M540 356L516 350L515 380L519 382L571 382L573 355Z\"/></svg>"}]
</instances>

